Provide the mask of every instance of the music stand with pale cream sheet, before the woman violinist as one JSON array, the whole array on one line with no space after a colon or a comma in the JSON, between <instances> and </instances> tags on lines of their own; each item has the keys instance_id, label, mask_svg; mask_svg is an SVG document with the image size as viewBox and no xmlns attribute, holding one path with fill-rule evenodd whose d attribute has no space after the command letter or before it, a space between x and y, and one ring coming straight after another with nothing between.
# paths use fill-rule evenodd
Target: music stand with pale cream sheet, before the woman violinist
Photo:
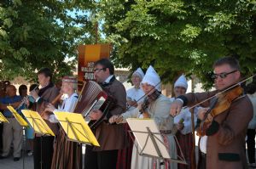
<instances>
[{"instance_id":1,"label":"music stand with pale cream sheet, before the woman violinist","mask_svg":"<svg viewBox=\"0 0 256 169\"><path fill-rule=\"evenodd\" d=\"M153 119L129 118L126 121L137 140L139 155L187 164L186 161L171 158Z\"/></svg>"}]
</instances>

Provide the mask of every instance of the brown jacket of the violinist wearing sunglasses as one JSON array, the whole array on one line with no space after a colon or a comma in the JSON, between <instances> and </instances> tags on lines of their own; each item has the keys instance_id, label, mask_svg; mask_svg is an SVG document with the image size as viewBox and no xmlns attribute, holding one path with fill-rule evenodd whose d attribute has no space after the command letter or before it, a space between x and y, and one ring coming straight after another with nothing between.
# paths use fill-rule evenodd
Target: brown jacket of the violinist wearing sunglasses
<instances>
[{"instance_id":1,"label":"brown jacket of the violinist wearing sunglasses","mask_svg":"<svg viewBox=\"0 0 256 169\"><path fill-rule=\"evenodd\" d=\"M211 93L188 93L188 105L208 99ZM210 102L201 104L209 107ZM247 168L245 138L249 121L253 118L253 105L247 96L233 101L228 110L214 117L218 132L207 138L207 169Z\"/></svg>"}]
</instances>

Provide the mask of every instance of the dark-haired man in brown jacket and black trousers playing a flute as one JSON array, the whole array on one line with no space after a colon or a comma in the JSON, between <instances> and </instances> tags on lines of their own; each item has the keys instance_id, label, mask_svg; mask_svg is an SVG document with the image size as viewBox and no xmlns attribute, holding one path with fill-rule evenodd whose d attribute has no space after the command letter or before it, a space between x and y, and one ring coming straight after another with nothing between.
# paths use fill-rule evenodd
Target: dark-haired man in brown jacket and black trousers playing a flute
<instances>
[{"instance_id":1,"label":"dark-haired man in brown jacket and black trousers playing a flute","mask_svg":"<svg viewBox=\"0 0 256 169\"><path fill-rule=\"evenodd\" d=\"M51 103L56 96L58 96L59 90L52 82L52 72L49 70L49 68L43 68L38 71L38 82L41 85L39 92L37 93L36 91L32 91L30 95L32 95L33 99L35 99L37 111L41 115L44 113L46 105ZM45 120L45 122L56 134L57 125L47 120ZM53 155L54 139L55 137L53 136L42 136L40 134L36 134L33 145L33 160L35 169L50 168Z\"/></svg>"}]
</instances>

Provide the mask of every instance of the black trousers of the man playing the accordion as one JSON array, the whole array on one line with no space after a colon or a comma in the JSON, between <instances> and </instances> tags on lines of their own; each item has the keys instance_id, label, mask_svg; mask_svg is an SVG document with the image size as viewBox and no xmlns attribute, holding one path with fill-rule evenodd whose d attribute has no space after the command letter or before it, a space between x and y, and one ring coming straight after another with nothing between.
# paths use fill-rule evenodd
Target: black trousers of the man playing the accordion
<instances>
[{"instance_id":1,"label":"black trousers of the man playing the accordion","mask_svg":"<svg viewBox=\"0 0 256 169\"><path fill-rule=\"evenodd\" d=\"M118 149L93 151L93 147L86 145L84 155L84 169L116 168Z\"/></svg>"}]
</instances>

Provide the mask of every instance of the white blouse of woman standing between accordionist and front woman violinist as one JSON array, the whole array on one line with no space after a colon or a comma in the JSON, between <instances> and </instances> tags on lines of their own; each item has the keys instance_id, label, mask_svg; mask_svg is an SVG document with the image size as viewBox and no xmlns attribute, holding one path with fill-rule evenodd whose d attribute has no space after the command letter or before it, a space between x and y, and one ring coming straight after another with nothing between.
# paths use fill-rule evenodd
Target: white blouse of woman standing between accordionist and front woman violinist
<instances>
[{"instance_id":1,"label":"white blouse of woman standing between accordionist and front woman violinist","mask_svg":"<svg viewBox=\"0 0 256 169\"><path fill-rule=\"evenodd\" d=\"M136 88L136 87L131 87L130 89L128 89L126 91L126 99L127 100L131 100L131 101L136 101L139 100L137 102L138 103L143 103L144 101L144 98L143 96L145 95L145 93L143 92L143 89L142 88ZM143 99L142 99L143 98ZM129 106L129 109L128 110L133 110L135 109L135 107L133 106Z\"/></svg>"}]
</instances>

